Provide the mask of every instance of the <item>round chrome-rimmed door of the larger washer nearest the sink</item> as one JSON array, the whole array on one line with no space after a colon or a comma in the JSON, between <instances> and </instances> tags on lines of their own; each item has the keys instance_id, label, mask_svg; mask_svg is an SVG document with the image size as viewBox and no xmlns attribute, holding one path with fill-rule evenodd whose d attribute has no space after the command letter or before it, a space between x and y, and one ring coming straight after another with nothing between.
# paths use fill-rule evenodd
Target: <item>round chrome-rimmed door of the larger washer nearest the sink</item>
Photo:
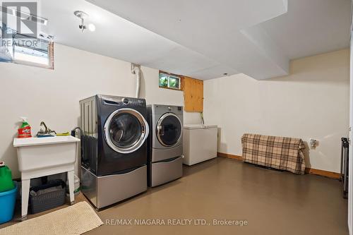
<instances>
[{"instance_id":1,"label":"round chrome-rimmed door of the larger washer nearest the sink","mask_svg":"<svg viewBox=\"0 0 353 235\"><path fill-rule=\"evenodd\" d=\"M142 114L134 109L118 109L104 124L104 138L116 152L138 150L148 137L149 127Z\"/></svg>"}]
</instances>

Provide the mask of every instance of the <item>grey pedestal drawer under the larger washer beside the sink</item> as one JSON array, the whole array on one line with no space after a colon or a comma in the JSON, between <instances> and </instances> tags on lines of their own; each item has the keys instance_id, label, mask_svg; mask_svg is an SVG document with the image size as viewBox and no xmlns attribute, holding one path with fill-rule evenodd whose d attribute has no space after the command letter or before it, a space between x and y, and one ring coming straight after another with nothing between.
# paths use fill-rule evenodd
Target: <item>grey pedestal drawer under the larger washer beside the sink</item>
<instances>
[{"instance_id":1,"label":"grey pedestal drawer under the larger washer beside the sink","mask_svg":"<svg viewBox=\"0 0 353 235\"><path fill-rule=\"evenodd\" d=\"M82 192L98 209L147 190L147 166L124 174L95 176L81 166Z\"/></svg>"}]
</instances>

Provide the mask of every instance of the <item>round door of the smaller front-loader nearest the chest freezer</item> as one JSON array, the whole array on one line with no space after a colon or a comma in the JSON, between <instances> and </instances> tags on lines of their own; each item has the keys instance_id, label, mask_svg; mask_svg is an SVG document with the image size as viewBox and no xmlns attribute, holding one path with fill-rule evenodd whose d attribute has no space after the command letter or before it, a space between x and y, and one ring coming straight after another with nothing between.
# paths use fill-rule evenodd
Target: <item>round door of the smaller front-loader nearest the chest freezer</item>
<instances>
[{"instance_id":1,"label":"round door of the smaller front-loader nearest the chest freezer","mask_svg":"<svg viewBox=\"0 0 353 235\"><path fill-rule=\"evenodd\" d=\"M176 145L183 132L179 117L173 113L163 114L158 120L156 128L157 139L165 147Z\"/></svg>"}]
</instances>

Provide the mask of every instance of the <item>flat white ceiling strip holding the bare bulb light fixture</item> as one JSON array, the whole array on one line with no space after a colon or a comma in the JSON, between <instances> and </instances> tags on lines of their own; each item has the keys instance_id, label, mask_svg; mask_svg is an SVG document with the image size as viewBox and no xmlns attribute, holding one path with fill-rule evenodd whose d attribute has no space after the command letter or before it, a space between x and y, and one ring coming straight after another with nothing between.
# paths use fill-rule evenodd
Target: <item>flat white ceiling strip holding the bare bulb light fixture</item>
<instances>
[{"instance_id":1,"label":"flat white ceiling strip holding the bare bulb light fixture","mask_svg":"<svg viewBox=\"0 0 353 235\"><path fill-rule=\"evenodd\" d=\"M90 15L86 23L94 23L95 32L78 29L76 10ZM41 30L59 44L200 79L219 77L224 71L237 73L84 0L42 0L40 16L48 18Z\"/></svg>"}]
</instances>

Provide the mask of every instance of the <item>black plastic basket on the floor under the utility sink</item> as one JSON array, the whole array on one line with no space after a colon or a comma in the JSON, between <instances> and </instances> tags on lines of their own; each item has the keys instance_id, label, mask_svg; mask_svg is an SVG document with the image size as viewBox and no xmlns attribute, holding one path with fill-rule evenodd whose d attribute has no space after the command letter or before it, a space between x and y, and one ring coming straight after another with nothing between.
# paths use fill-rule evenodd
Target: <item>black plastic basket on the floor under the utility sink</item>
<instances>
[{"instance_id":1,"label":"black plastic basket on the floor under the utility sink","mask_svg":"<svg viewBox=\"0 0 353 235\"><path fill-rule=\"evenodd\" d=\"M30 188L30 191L37 192L42 189L58 186L60 186L60 188L57 188L54 191L42 193L40 195L30 195L30 210L32 214L64 205L66 200L66 184L62 180L54 180L49 181L42 186Z\"/></svg>"}]
</instances>

